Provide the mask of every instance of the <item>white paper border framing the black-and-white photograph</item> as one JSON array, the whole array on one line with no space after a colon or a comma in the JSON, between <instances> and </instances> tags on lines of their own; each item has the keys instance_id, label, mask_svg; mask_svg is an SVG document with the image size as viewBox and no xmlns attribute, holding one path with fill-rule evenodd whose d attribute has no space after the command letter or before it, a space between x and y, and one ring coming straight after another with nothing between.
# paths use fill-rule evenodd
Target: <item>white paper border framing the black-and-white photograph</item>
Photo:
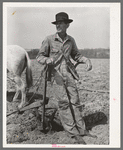
<instances>
[{"instance_id":1,"label":"white paper border framing the black-and-white photograph","mask_svg":"<svg viewBox=\"0 0 123 150\"><path fill-rule=\"evenodd\" d=\"M65 145L65 148L120 148L120 83L121 83L121 4L120 3L34 3L3 2L3 147L5 148L52 148L52 144L6 144L6 46L8 7L109 7L110 8L110 143L109 145ZM116 99L114 101L113 99Z\"/></svg>"}]
</instances>

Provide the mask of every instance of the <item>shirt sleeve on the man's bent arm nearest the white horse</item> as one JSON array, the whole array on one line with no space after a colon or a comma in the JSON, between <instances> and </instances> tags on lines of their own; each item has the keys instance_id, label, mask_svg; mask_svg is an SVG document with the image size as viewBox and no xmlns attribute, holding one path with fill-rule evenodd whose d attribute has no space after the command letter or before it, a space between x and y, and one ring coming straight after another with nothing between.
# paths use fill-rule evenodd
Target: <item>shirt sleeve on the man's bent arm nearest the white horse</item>
<instances>
[{"instance_id":1,"label":"shirt sleeve on the man's bent arm nearest the white horse","mask_svg":"<svg viewBox=\"0 0 123 150\"><path fill-rule=\"evenodd\" d=\"M49 57L49 53L50 53L50 45L49 45L48 37L46 37L45 40L42 42L41 48L36 57L37 61L42 65L45 64L46 60Z\"/></svg>"}]
</instances>

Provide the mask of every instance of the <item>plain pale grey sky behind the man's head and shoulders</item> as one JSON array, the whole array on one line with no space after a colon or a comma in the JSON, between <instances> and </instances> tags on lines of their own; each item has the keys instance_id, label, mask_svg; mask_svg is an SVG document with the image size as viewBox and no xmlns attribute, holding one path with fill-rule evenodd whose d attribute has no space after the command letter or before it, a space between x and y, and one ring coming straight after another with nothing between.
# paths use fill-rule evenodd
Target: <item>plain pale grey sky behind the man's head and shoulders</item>
<instances>
[{"instance_id":1,"label":"plain pale grey sky behind the man's head and shoulders","mask_svg":"<svg viewBox=\"0 0 123 150\"><path fill-rule=\"evenodd\" d=\"M51 22L55 15L66 12L73 22L67 34L79 49L110 48L109 7L8 7L7 45L20 45L25 49L40 48L46 36L54 34Z\"/></svg>"}]
</instances>

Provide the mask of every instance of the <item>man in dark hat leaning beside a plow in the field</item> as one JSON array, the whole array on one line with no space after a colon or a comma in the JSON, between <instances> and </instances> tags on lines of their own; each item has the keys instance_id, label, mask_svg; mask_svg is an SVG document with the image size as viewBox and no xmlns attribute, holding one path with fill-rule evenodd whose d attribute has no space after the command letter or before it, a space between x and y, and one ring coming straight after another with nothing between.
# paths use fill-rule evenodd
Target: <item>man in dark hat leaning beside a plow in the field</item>
<instances>
[{"instance_id":1,"label":"man in dark hat leaning beside a plow in the field","mask_svg":"<svg viewBox=\"0 0 123 150\"><path fill-rule=\"evenodd\" d=\"M75 83L78 75L70 58L76 62L86 63L87 70L92 69L88 58L83 57L76 46L75 40L67 35L67 28L72 22L68 14L56 14L56 34L47 36L42 43L37 61L50 66L51 78L54 78L54 93L58 100L59 115L64 129L70 133L77 143L86 144L82 136L90 135L80 112L80 100Z\"/></svg>"}]
</instances>

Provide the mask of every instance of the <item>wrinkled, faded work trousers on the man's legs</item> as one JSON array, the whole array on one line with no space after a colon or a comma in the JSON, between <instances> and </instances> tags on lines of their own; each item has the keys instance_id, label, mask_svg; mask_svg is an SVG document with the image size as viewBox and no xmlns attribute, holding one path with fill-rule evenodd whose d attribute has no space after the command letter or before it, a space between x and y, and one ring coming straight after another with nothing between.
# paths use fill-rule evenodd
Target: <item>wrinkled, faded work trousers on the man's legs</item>
<instances>
[{"instance_id":1,"label":"wrinkled, faded work trousers on the man's legs","mask_svg":"<svg viewBox=\"0 0 123 150\"><path fill-rule=\"evenodd\" d=\"M85 123L76 83L70 72L53 71L53 92L58 100L59 117L64 129L71 137L84 135Z\"/></svg>"}]
</instances>

